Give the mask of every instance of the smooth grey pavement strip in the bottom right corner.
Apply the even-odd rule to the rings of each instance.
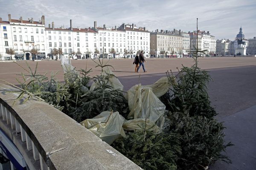
[[[209,170],[256,170],[256,105],[219,121],[227,127],[225,141],[235,144],[225,153],[233,163],[217,161]]]

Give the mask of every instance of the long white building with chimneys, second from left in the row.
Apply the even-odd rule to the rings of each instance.
[[[70,20],[70,28],[54,28],[49,24],[45,28],[47,39],[47,54],[52,59],[54,48],[62,50],[64,56],[70,56],[73,59],[89,58],[93,54],[96,47],[97,32],[91,28],[73,28],[72,20]]]

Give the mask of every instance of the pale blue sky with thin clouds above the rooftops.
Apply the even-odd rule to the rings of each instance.
[[[240,26],[246,38],[256,37],[256,0],[0,0],[0,17],[8,20],[20,16],[23,20],[39,20],[45,15],[46,26],[55,27],[119,26],[134,23],[156,29],[182,31],[210,31],[216,39],[233,40]]]

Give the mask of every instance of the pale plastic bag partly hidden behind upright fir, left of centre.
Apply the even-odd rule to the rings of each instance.
[[[103,68],[103,75],[110,75],[109,79],[106,79],[106,81],[108,81],[107,85],[111,86],[114,89],[123,91],[124,86],[121,84],[119,79],[115,76],[115,74],[113,74],[113,72],[108,67]],[[99,87],[99,85],[97,85],[96,82],[93,82],[93,84],[90,87],[90,92],[92,92],[97,87]]]

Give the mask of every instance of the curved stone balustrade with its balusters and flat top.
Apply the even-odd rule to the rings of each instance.
[[[141,170],[61,111],[29,99],[13,104],[17,89],[0,84],[0,128],[30,170]],[[24,164],[24,160],[26,164]]]

